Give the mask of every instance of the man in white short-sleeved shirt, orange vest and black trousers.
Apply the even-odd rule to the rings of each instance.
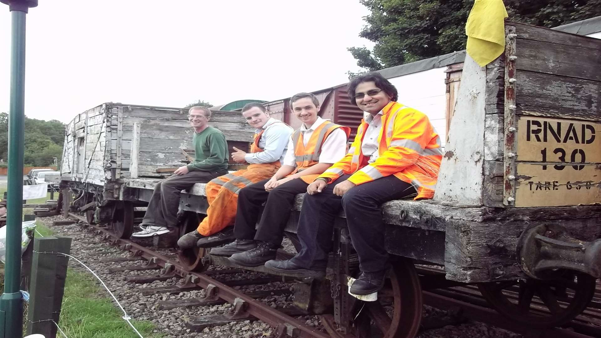
[[[259,266],[274,259],[294,197],[307,192],[317,176],[346,154],[350,128],[319,117],[319,100],[314,94],[296,94],[290,105],[302,125],[288,141],[284,164],[270,179],[240,190],[236,241],[213,248],[211,254],[230,257],[231,262],[242,266]],[[255,231],[263,203],[265,208]]]

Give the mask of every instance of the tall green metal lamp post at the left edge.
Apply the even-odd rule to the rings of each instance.
[[[0,0],[10,6],[12,19],[10,112],[8,115],[8,198],[4,293],[0,297],[0,333],[22,336],[21,220],[23,214],[23,140],[25,121],[25,15],[37,0]]]

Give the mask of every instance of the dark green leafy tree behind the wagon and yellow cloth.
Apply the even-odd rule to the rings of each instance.
[[[362,69],[379,70],[465,49],[474,0],[361,0],[371,14],[359,36],[373,51],[348,51]],[[601,0],[504,0],[509,19],[548,28],[601,15]],[[354,73],[349,72],[349,75]]]

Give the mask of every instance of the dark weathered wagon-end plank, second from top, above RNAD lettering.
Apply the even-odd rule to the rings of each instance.
[[[596,49],[518,38],[517,70],[601,81],[601,41]],[[578,62],[575,62],[578,60]]]

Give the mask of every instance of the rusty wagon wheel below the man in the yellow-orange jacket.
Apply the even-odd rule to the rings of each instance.
[[[413,338],[418,333],[423,301],[415,266],[409,259],[392,262],[388,277],[377,301],[356,302],[355,337]],[[324,325],[332,327],[331,323]],[[335,330],[328,333],[349,337]]]

